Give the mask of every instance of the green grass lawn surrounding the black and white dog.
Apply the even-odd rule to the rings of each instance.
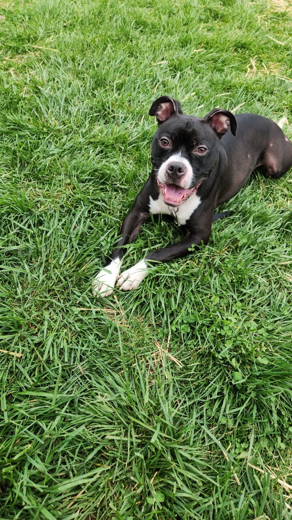
[[[0,518],[292,518],[292,176],[135,292],[92,277],[168,94],[292,139],[286,0],[0,4]],[[178,239],[143,226],[125,267]],[[16,353],[13,355],[11,353]]]

